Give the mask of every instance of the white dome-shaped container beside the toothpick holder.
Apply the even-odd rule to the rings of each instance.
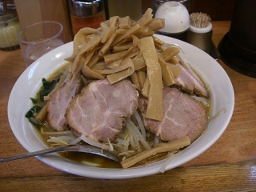
[[[165,2],[158,7],[154,18],[164,18],[165,27],[161,32],[178,34],[186,31],[190,26],[190,14],[180,2]]]

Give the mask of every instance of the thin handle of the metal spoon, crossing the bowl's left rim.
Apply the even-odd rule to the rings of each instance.
[[[58,147],[54,147],[54,148],[50,148],[50,149],[46,149],[46,150],[38,150],[38,151],[34,151],[31,153],[27,153],[27,154],[20,154],[20,155],[10,157],[10,158],[0,158],[0,163],[1,162],[10,162],[10,161],[14,161],[14,160],[21,159],[21,158],[30,158],[30,157],[37,156],[39,154],[50,154],[50,153],[62,152],[62,151],[66,151],[66,149],[68,147],[75,148],[74,146],[58,146]]]

